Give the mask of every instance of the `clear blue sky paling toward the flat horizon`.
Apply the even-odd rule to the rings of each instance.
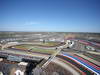
[[[100,0],[0,0],[0,31],[100,32]]]

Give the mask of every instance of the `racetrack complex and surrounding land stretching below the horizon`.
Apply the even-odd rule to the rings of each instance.
[[[99,33],[1,32],[0,75],[100,75],[99,38]]]

